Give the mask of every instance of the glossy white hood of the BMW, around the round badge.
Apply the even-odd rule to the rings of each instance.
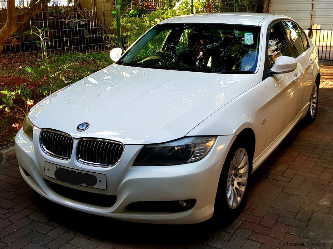
[[[124,144],[185,136],[253,86],[253,74],[214,74],[112,64],[63,88],[30,112],[39,128]],[[88,122],[89,128],[77,131]]]

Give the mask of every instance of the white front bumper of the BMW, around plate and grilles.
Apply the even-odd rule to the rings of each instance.
[[[31,142],[22,129],[15,138],[17,160],[23,179],[40,195],[76,210],[108,216],[120,220],[190,224],[209,219],[214,211],[214,201],[221,168],[235,136],[218,136],[210,152],[201,160],[173,166],[135,166],[133,161],[143,145],[125,145],[120,161],[112,167],[101,168],[79,163],[72,153],[68,161],[45,154],[39,145],[41,129],[35,127]],[[75,149],[78,139],[74,139]],[[51,162],[77,170],[106,174],[107,189],[72,186],[45,175],[44,162]],[[26,175],[24,172],[28,172]],[[89,205],[57,194],[49,181],[87,192],[115,195],[112,207]],[[133,202],[177,201],[195,199],[194,207],[181,212],[129,211],[126,207]]]

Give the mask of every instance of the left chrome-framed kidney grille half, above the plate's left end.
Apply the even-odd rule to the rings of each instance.
[[[51,129],[43,129],[39,135],[42,150],[53,157],[69,160],[73,150],[71,135]]]

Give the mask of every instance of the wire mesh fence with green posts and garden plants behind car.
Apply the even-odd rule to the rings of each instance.
[[[0,0],[0,148],[38,101],[110,65],[110,49],[158,22],[262,10],[263,0]]]

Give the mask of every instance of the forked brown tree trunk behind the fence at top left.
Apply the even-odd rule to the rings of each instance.
[[[7,21],[0,30],[0,53],[2,52],[6,41],[21,28],[22,24],[29,21],[41,12],[50,0],[33,0],[30,2],[30,8],[17,15],[15,10],[15,0],[7,0]]]

